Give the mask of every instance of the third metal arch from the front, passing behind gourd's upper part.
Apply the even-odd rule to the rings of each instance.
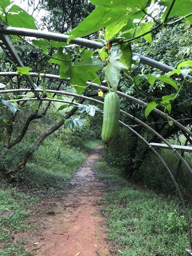
[[[31,89],[12,89],[12,90],[0,90],[0,93],[13,93],[13,92],[43,92],[42,89],[35,89],[35,90],[31,90]],[[76,93],[68,93],[68,92],[62,92],[62,91],[58,91],[58,90],[47,90],[48,93],[59,93],[59,94],[64,94],[64,95],[68,95],[68,96],[73,96],[73,97],[78,97],[78,98],[83,98],[83,99],[87,99],[87,100],[91,100],[93,102],[99,103],[99,104],[104,104],[104,102],[99,101],[97,99],[92,99],[90,97],[87,96],[83,96],[80,94],[76,94]],[[22,101],[23,99],[21,99],[20,101]],[[17,100],[13,100],[13,101],[17,101]],[[180,158],[180,160],[183,162],[183,164],[186,166],[186,168],[189,170],[189,172],[192,174],[192,169],[190,168],[190,166],[188,165],[188,163],[186,163],[186,161],[184,160],[184,158],[177,152],[177,150],[166,140],[164,139],[159,133],[157,133],[157,131],[154,131],[153,128],[149,127],[148,125],[146,125],[144,122],[142,122],[140,119],[137,119],[135,116],[132,116],[131,114],[120,110],[120,113],[124,114],[125,116],[128,116],[129,118],[133,119],[135,122],[139,123],[140,125],[143,125],[145,128],[148,129],[148,131],[151,131],[154,135],[156,135],[160,140],[162,140],[164,143],[166,143],[166,145],[169,146],[169,148],[174,152],[174,154],[177,155],[178,158]]]

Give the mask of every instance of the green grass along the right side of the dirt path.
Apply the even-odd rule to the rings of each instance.
[[[122,184],[122,172],[97,163],[97,177]],[[107,170],[107,175],[102,172]],[[104,173],[105,173],[104,172]],[[111,175],[109,173],[111,172]],[[113,174],[112,174],[113,173]],[[114,178],[115,176],[115,178]],[[149,189],[126,184],[101,200],[108,222],[108,239],[117,244],[121,256],[183,256],[188,246],[186,220],[177,198],[157,195]],[[188,206],[189,215],[192,209]]]

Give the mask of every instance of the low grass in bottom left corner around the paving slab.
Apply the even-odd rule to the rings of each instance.
[[[0,209],[13,210],[14,213],[8,218],[0,218],[0,241],[3,249],[1,256],[29,256],[27,250],[23,249],[19,243],[11,243],[15,232],[29,229],[32,224],[27,218],[29,212],[26,207],[32,205],[37,200],[29,195],[24,195],[17,188],[12,186],[2,186],[0,189]]]

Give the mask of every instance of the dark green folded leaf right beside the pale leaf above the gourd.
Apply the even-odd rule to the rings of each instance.
[[[119,48],[122,50],[122,55],[119,60],[126,67],[131,69],[132,57],[133,57],[131,44],[129,44],[129,43],[119,44]]]

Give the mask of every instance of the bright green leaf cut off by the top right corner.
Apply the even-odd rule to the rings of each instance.
[[[160,1],[159,4],[161,6],[167,7],[166,11],[163,13],[162,20],[165,19],[166,14],[169,10],[169,7],[171,6],[171,3],[172,3],[172,0],[161,0]],[[173,8],[169,14],[169,17],[175,16],[175,15],[185,16],[185,15],[189,14],[190,12],[192,12],[192,0],[182,0],[182,1],[176,0],[173,5]],[[189,22],[192,24],[192,16],[187,17],[183,21],[186,21],[186,20],[189,20]]]

